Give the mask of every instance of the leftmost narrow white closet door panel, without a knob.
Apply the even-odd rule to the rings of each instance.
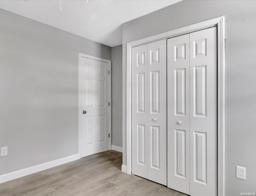
[[[132,173],[148,178],[147,45],[132,48]]]

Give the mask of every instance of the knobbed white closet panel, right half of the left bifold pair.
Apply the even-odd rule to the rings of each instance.
[[[148,179],[167,185],[166,40],[148,44]]]

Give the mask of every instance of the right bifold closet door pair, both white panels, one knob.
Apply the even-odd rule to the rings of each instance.
[[[168,40],[168,187],[217,195],[216,27]]]

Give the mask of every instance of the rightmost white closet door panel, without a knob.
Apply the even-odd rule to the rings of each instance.
[[[217,195],[217,28],[190,33],[190,195]]]

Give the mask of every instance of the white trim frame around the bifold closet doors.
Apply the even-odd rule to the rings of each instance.
[[[176,36],[180,36],[183,34],[188,34],[191,32],[195,32],[198,30],[203,30],[206,28],[210,28],[213,26],[217,26],[217,94],[218,94],[218,116],[217,116],[217,141],[218,141],[218,149],[217,149],[217,193],[218,196],[224,196],[224,70],[225,70],[225,39],[224,39],[224,16],[220,16],[217,18],[213,18],[210,20],[206,20],[203,22],[199,22],[196,24],[192,24],[189,26],[185,26],[182,28],[178,28],[175,30],[171,30],[168,32],[164,32],[161,34],[157,34],[154,36],[150,36],[147,38],[143,38],[140,40],[136,40],[133,42],[127,43],[127,53],[126,53],[126,60],[127,64],[126,67],[126,74],[123,74],[123,78],[126,77],[126,84],[123,84],[123,88],[126,89],[126,96],[123,96],[124,104],[123,108],[123,115],[124,122],[123,122],[123,129],[126,130],[126,158],[127,158],[127,165],[126,165],[126,173],[132,173],[132,150],[131,150],[131,138],[132,138],[132,112],[131,112],[131,105],[132,105],[132,97],[131,97],[131,69],[132,69],[132,48],[135,46],[140,46],[142,44],[148,44],[150,42],[155,42],[162,39],[173,38]],[[122,168],[125,168],[123,165]]]

